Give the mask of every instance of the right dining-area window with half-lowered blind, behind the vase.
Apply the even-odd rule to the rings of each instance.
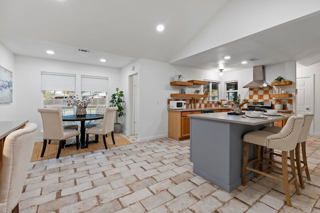
[[[94,114],[96,105],[108,105],[107,97],[108,78],[99,76],[81,75],[81,95],[93,97],[92,103],[86,108],[87,113]]]

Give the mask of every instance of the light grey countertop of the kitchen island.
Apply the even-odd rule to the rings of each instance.
[[[282,116],[267,116],[267,118],[249,118],[249,117],[245,117],[245,115],[228,115],[227,112],[191,114],[187,116],[191,118],[199,118],[199,119],[254,126],[254,125],[265,124],[273,121],[283,120],[285,118],[290,117],[291,114],[283,114]]]

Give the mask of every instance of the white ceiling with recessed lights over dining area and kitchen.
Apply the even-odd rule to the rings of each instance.
[[[0,42],[15,54],[109,67],[138,58],[169,62],[227,2],[0,0]],[[155,30],[159,23],[162,32]],[[221,62],[225,70],[287,61],[310,65],[320,61],[319,29],[316,12],[173,63],[207,70]],[[251,58],[258,60],[240,64]]]

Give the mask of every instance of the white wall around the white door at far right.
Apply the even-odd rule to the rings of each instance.
[[[320,82],[320,62],[312,64],[310,66],[302,66],[299,65],[296,67],[296,75],[301,76],[305,74],[314,75],[314,119],[313,119],[313,135],[320,136],[320,119],[318,113],[320,113],[320,84],[316,82]],[[313,97],[310,97],[313,98]]]

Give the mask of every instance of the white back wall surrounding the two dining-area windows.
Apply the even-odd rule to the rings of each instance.
[[[120,81],[120,69],[72,63],[35,57],[15,56],[16,95],[14,114],[18,120],[29,120],[36,123],[37,140],[41,139],[41,116],[37,109],[43,106],[41,100],[41,71],[76,74],[76,93],[80,94],[80,75],[108,77],[108,99]],[[2,110],[0,110],[2,111]]]

